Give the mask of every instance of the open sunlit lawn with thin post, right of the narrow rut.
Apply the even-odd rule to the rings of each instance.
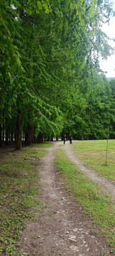
[[[72,149],[78,158],[96,170],[99,175],[115,181],[115,140],[108,142],[106,164],[106,140],[73,142]]]

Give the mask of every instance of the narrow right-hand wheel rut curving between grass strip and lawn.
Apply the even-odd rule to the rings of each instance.
[[[98,176],[96,171],[88,169],[86,166],[84,166],[84,163],[82,163],[82,161],[80,161],[80,159],[78,159],[77,156],[72,152],[71,146],[68,143],[69,142],[67,142],[64,147],[68,158],[84,173],[85,176],[101,186],[104,193],[108,193],[111,195],[112,200],[115,200],[114,182],[107,180],[107,178],[104,178],[104,176]]]

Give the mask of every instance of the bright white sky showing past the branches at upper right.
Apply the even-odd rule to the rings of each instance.
[[[111,2],[113,3],[113,9],[115,11],[115,0],[111,0]],[[104,24],[102,26],[102,31],[104,31],[109,38],[115,38],[115,17],[110,18],[109,25]],[[109,44],[115,48],[115,42],[109,41]],[[107,73],[105,73],[106,78],[115,78],[115,50],[114,54],[109,56],[107,60],[102,60],[100,57],[99,65],[104,72],[107,71]]]

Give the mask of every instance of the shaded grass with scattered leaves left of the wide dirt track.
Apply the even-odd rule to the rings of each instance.
[[[23,149],[1,154],[0,255],[20,255],[18,241],[33,208],[40,208],[37,167],[46,151]]]

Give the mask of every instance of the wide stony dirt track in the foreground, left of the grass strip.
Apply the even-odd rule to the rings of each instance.
[[[62,144],[62,142],[61,142]],[[39,166],[43,208],[38,220],[28,223],[20,243],[20,250],[28,256],[106,256],[110,247],[103,238],[98,238],[98,229],[92,221],[82,215],[82,208],[74,201],[63,186],[54,164],[55,147],[48,148],[48,154]],[[65,151],[70,151],[66,144]]]

